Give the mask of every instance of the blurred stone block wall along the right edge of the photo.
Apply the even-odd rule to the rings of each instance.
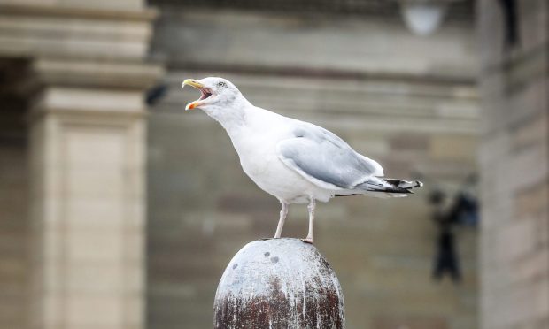
[[[482,327],[549,327],[549,4],[478,3],[483,96]]]

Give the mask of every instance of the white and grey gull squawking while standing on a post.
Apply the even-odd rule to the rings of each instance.
[[[417,180],[383,178],[381,165],[336,134],[254,106],[226,79],[187,79],[185,86],[202,94],[185,110],[200,109],[219,122],[244,172],[282,204],[274,239],[281,237],[289,204],[308,203],[309,231],[302,241],[313,243],[316,201],[326,203],[342,195],[406,196],[423,185]]]

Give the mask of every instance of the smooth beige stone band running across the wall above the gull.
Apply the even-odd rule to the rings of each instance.
[[[467,29],[462,26],[447,26],[421,38],[398,21],[374,15],[338,19],[336,15],[166,7],[159,27],[162,33],[152,41],[153,50],[183,66],[232,66],[253,71],[259,65],[297,72],[316,68],[349,70],[355,75],[410,74],[420,80],[429,76],[469,79],[477,67],[472,56],[476,45],[473,39],[461,37]]]

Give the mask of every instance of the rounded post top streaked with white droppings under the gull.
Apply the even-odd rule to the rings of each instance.
[[[344,328],[336,273],[298,239],[250,242],[221,277],[213,328]]]

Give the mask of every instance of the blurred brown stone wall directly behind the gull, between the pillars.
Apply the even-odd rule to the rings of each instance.
[[[148,326],[209,327],[230,258],[274,234],[277,200],[245,176],[216,122],[183,111],[198,96],[183,79],[220,75],[256,105],[339,134],[388,176],[425,178],[406,199],[318,205],[315,244],[341,281],[348,328],[475,328],[476,232],[458,233],[464,281],[433,282],[426,201],[476,172],[473,43],[460,26],[421,39],[392,20],[163,10],[153,56],[170,69],[149,119]],[[305,206],[291,206],[282,235],[306,227]]]

